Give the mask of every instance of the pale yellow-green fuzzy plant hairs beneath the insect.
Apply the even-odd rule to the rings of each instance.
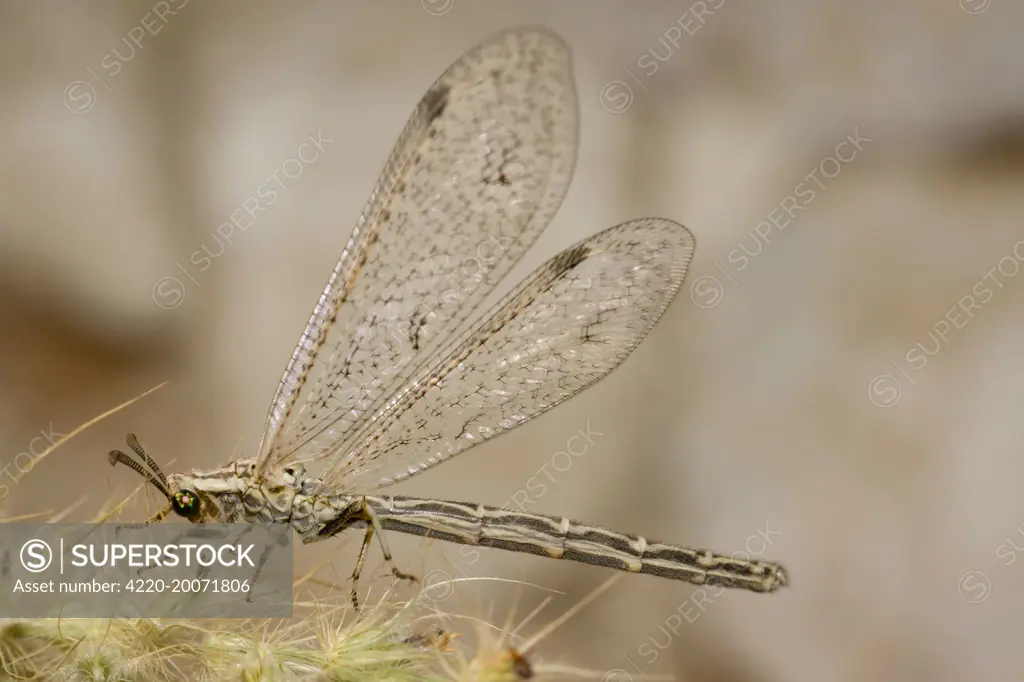
[[[164,384],[95,417],[57,440],[49,456],[78,433],[128,407]],[[136,499],[110,501],[93,522],[118,518]],[[84,503],[57,512],[7,517],[0,522],[37,519],[59,522]],[[295,593],[310,576],[296,581]],[[325,598],[296,600],[291,619],[0,619],[0,682],[517,682],[525,679],[601,674],[545,665],[534,647],[568,615],[588,603],[605,583],[568,613],[513,646],[509,630],[477,625],[478,636],[453,646],[460,633],[456,616],[423,609],[425,600],[400,600],[386,591],[358,610],[345,585],[328,585]],[[308,593],[303,590],[302,594]],[[545,602],[546,603],[546,602]],[[543,606],[543,605],[542,605]],[[445,627],[438,627],[444,623]],[[497,638],[494,631],[502,634]]]

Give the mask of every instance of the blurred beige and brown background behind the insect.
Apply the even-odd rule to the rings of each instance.
[[[169,468],[252,454],[412,106],[488,34],[543,24],[574,52],[582,146],[512,279],[665,215],[697,237],[687,288],[607,380],[398,492],[503,504],[547,467],[535,511],[788,566],[771,596],[625,577],[537,654],[606,679],[1019,675],[1024,5],[768,4],[4,3],[5,513],[131,489],[105,461],[129,430]],[[189,265],[317,131],[272,208]],[[40,434],[164,380],[20,473]],[[357,540],[315,549],[347,576]],[[526,632],[606,577],[391,542],[424,572],[564,592]],[[502,621],[544,594],[468,583],[441,607]]]

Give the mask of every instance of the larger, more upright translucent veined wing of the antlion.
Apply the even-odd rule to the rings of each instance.
[[[561,204],[577,118],[569,52],[541,29],[430,87],[292,353],[259,471],[336,451],[466,321]]]

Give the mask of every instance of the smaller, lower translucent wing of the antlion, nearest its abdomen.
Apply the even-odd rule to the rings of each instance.
[[[341,443],[325,482],[356,491],[407,478],[587,388],[662,316],[693,248],[682,225],[646,218],[566,249]]]

